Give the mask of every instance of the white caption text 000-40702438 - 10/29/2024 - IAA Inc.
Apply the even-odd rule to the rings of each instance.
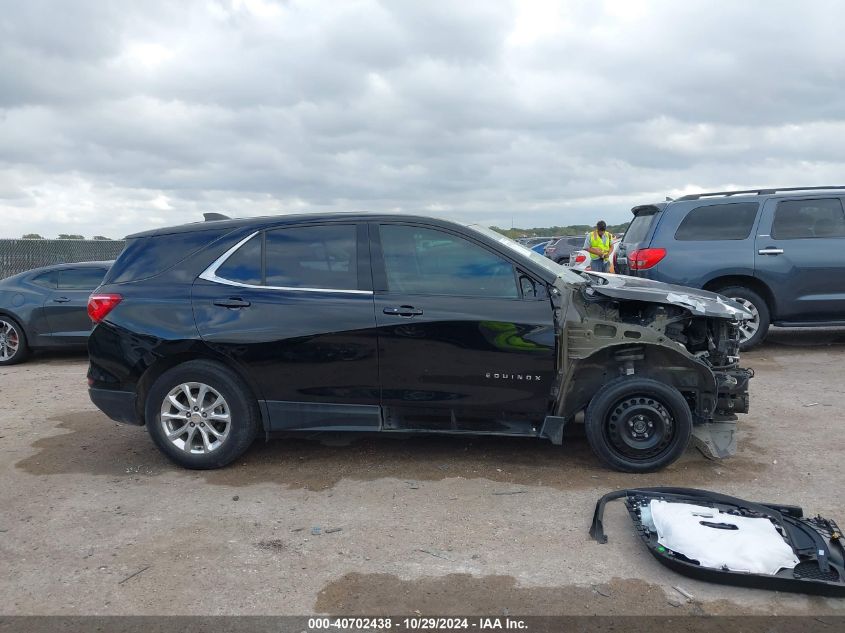
[[[354,618],[309,618],[309,631],[527,631],[525,620],[510,617],[354,617]]]

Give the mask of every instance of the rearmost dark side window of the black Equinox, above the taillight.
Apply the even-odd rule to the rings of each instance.
[[[119,284],[154,277],[211,244],[225,232],[221,229],[189,231],[131,239],[103,283]]]

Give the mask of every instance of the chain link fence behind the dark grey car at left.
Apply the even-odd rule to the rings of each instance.
[[[0,239],[0,279],[51,264],[115,259],[124,240],[4,240]]]

